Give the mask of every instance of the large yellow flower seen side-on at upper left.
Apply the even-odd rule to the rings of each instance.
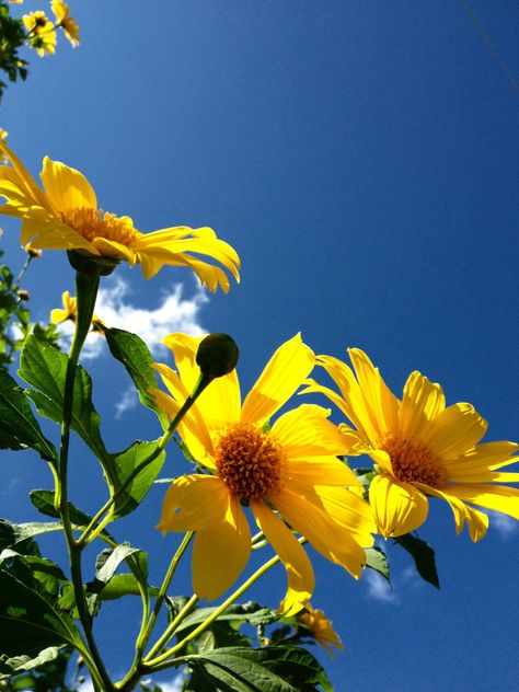
[[[42,250],[76,250],[92,258],[140,264],[151,278],[164,265],[193,269],[209,290],[229,290],[229,278],[218,266],[195,258],[208,255],[239,280],[240,258],[210,228],[185,226],[141,233],[129,217],[116,217],[97,208],[95,193],[86,177],[64,163],[45,157],[41,173],[44,189],[2,142],[0,152],[12,165],[0,165],[0,196],[8,204],[0,214],[22,219],[21,242]]]

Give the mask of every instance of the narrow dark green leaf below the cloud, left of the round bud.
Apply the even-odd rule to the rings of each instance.
[[[107,328],[105,330],[105,337],[112,355],[125,366],[134,380],[141,403],[155,412],[165,430],[169,425],[168,416],[159,411],[149,393],[150,388],[157,388],[157,380],[155,371],[151,367],[153,357],[148,346],[140,336],[124,330]]]

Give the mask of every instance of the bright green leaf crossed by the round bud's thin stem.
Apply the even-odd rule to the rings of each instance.
[[[157,449],[158,441],[143,442],[137,440],[125,451],[118,454],[111,454],[115,488],[122,487],[134,470],[155,452]],[[124,517],[139,506],[159,475],[164,460],[165,452],[162,451],[137,474],[126,491],[117,498],[115,504],[115,517]]]

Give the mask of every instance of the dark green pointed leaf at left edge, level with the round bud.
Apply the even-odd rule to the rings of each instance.
[[[0,368],[0,448],[35,449],[51,463],[58,462],[58,452],[43,435],[31,411],[25,392]]]

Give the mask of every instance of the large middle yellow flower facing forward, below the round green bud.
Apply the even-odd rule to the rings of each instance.
[[[155,365],[171,396],[152,390],[159,407],[173,417],[199,377],[195,357],[200,338],[171,334],[177,372]],[[214,380],[178,426],[189,452],[208,470],[176,478],[168,489],[158,528],[196,531],[193,586],[199,598],[221,596],[240,576],[251,552],[244,507],[285,565],[288,590],[281,608],[295,614],[314,587],[310,560],[280,519],[322,555],[359,577],[361,546],[372,544],[369,505],[346,486],[357,477],[336,455],[347,436],[326,420],[330,411],[302,405],[267,422],[295,393],[314,365],[300,335],[272,357],[243,405],[235,370]]]

